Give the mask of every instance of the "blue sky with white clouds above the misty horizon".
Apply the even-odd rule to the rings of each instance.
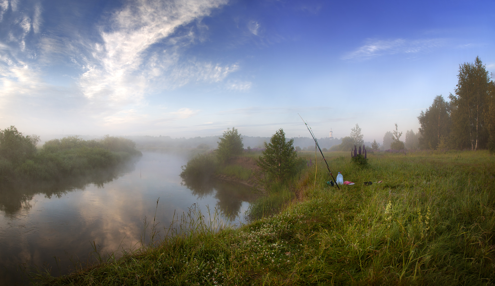
[[[493,0],[0,0],[0,128],[381,143],[494,51]]]

